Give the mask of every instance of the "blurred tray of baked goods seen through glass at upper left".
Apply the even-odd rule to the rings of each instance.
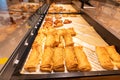
[[[43,5],[42,2],[40,3],[27,3],[27,2],[22,2],[19,4],[14,4],[9,6],[9,10],[12,11],[22,11],[22,12],[35,12],[39,7]]]

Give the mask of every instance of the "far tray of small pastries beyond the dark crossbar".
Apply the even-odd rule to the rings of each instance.
[[[52,3],[48,13],[78,13],[72,4],[56,4]]]

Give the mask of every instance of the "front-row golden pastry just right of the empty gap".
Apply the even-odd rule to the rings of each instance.
[[[100,62],[100,65],[107,69],[107,70],[113,70],[114,65],[111,62],[110,56],[105,49],[105,47],[96,47],[96,54],[98,56],[98,60]]]

